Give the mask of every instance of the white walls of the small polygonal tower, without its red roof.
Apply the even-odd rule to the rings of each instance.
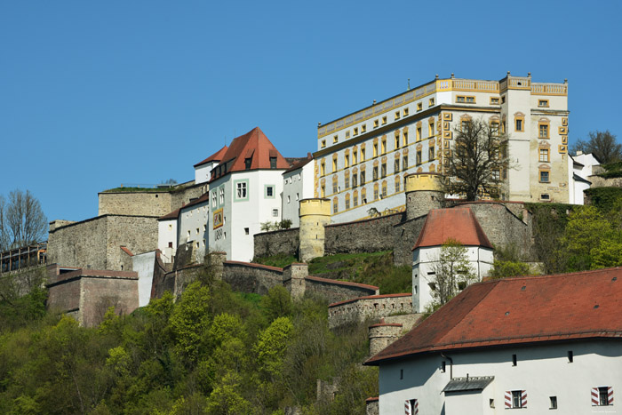
[[[432,289],[428,285],[434,281],[435,266],[441,255],[440,246],[418,248],[412,258],[412,309],[422,313],[432,304]],[[478,281],[492,269],[492,250],[481,246],[466,246],[466,258],[478,276]]]

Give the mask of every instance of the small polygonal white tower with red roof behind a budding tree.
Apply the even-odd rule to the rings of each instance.
[[[412,310],[415,313],[423,313],[432,304],[431,285],[435,283],[443,243],[449,239],[466,248],[466,259],[478,281],[492,268],[492,243],[473,211],[468,207],[429,211],[412,251]]]

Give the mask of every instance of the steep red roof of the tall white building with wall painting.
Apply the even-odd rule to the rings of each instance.
[[[231,141],[227,152],[222,156],[221,163],[211,171],[211,180],[223,177],[230,172],[270,169],[270,158],[272,157],[276,158],[275,170],[290,168],[285,157],[278,152],[270,140],[267,140],[266,134],[259,127],[255,127],[250,132]],[[246,159],[251,159],[249,169],[246,169],[245,166]]]

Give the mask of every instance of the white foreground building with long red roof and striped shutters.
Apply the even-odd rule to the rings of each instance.
[[[379,413],[616,413],[621,307],[622,268],[474,283],[365,363]]]

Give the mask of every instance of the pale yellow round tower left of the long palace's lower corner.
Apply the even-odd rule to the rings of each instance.
[[[324,226],[331,223],[330,199],[300,201],[299,257],[303,262],[324,255]]]

